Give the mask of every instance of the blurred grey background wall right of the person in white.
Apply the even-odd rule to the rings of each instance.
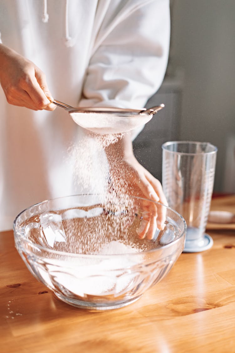
[[[171,1],[167,73],[150,103],[164,99],[165,131],[148,123],[134,143],[137,158],[161,179],[164,140],[211,142],[218,147],[214,190],[235,192],[235,0]],[[150,149],[141,152],[149,138]]]

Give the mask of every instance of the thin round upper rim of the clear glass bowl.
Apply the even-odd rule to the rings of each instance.
[[[76,196],[99,196],[101,194],[95,194],[95,193],[87,193],[87,194],[75,194],[75,195],[68,195],[68,196],[61,196],[61,197],[56,197],[56,198],[52,198],[52,199],[47,199],[47,200],[44,200],[42,202],[38,202],[36,204],[33,204],[27,208],[25,208],[23,211],[21,211],[17,216],[16,218],[14,219],[14,222],[13,222],[13,231],[14,231],[14,238],[17,238],[22,241],[24,241],[25,243],[28,243],[30,244],[31,246],[33,247],[36,247],[37,249],[40,249],[40,250],[43,250],[43,251],[46,251],[48,253],[51,253],[51,254],[56,254],[56,255],[62,255],[64,257],[66,256],[69,256],[69,257],[86,257],[86,258],[107,258],[107,257],[110,257],[110,256],[131,256],[131,257],[134,257],[134,256],[140,256],[141,254],[148,254],[148,253],[152,253],[152,252],[156,252],[156,251],[160,251],[162,249],[166,249],[168,247],[171,247],[173,246],[173,244],[177,244],[180,239],[183,237],[183,234],[185,233],[186,234],[186,230],[187,230],[187,225],[186,225],[186,221],[185,219],[177,212],[175,211],[174,209],[172,209],[171,207],[169,206],[166,206],[160,202],[156,202],[156,201],[153,201],[153,200],[150,200],[150,199],[147,199],[147,198],[144,198],[144,197],[139,197],[139,196],[131,196],[132,198],[135,198],[135,199],[141,199],[141,200],[144,200],[144,201],[149,201],[149,202],[152,202],[152,203],[155,203],[155,204],[159,204],[171,211],[173,211],[177,216],[180,217],[180,219],[183,221],[183,225],[184,225],[184,229],[183,231],[181,232],[180,234],[180,237],[174,241],[172,241],[171,243],[169,244],[166,244],[166,245],[163,245],[159,248],[156,248],[156,249],[150,249],[150,250],[146,250],[146,251],[143,251],[143,252],[135,252],[135,253],[121,253],[121,254],[81,254],[81,253],[73,253],[73,252],[65,252],[65,251],[58,251],[58,250],[53,250],[53,249],[48,249],[47,247],[44,247],[43,245],[40,245],[40,244],[35,244],[35,243],[32,243],[32,241],[30,241],[29,239],[26,239],[25,237],[23,237],[23,235],[18,232],[16,230],[16,222],[18,220],[18,218],[20,217],[21,214],[23,214],[25,211],[29,210],[30,208],[32,207],[35,207],[35,206],[38,206],[38,205],[41,205],[41,204],[44,204],[44,203],[47,203],[47,202],[50,202],[50,201],[56,201],[56,200],[59,200],[59,199],[64,199],[64,198],[68,198],[68,197],[76,197]]]

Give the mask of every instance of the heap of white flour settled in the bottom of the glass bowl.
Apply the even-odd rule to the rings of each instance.
[[[136,273],[130,273],[128,269],[141,263],[141,254],[134,258],[131,256],[137,252],[138,250],[130,245],[111,241],[105,244],[97,255],[114,256],[103,257],[99,261],[95,257],[68,261],[51,259],[50,264],[47,264],[48,273],[57,286],[62,286],[80,297],[111,294],[116,297],[130,290],[136,283]],[[117,254],[119,256],[116,256]],[[40,272],[43,277],[48,276],[44,271]]]

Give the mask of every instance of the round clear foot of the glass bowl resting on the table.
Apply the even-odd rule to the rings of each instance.
[[[106,303],[89,303],[88,301],[83,301],[83,300],[78,300],[78,299],[72,299],[65,297],[62,294],[54,292],[56,297],[64,303],[67,303],[69,305],[73,305],[75,307],[81,308],[81,309],[89,309],[89,310],[112,310],[112,309],[119,309],[122,308],[126,305],[134,303],[136,300],[140,299],[143,294],[138,295],[134,299],[129,299],[129,300],[119,300],[119,301],[111,301],[106,302]]]

